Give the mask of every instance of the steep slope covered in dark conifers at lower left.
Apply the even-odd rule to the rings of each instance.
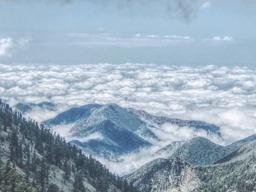
[[[0,99],[0,191],[136,191],[94,158]]]

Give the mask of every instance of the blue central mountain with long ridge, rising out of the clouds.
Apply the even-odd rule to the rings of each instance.
[[[72,143],[91,155],[113,159],[159,142],[155,131],[170,122],[219,135],[219,128],[208,123],[157,117],[117,104],[74,107],[43,123],[48,128],[71,125],[69,133],[75,138]]]

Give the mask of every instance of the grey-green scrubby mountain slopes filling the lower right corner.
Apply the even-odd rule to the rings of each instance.
[[[255,173],[255,136],[227,147],[199,137],[124,178],[145,192],[255,191]]]

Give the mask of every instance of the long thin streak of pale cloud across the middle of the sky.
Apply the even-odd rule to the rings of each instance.
[[[68,33],[64,34],[67,39],[61,45],[75,45],[79,47],[176,47],[180,45],[200,45],[201,43],[221,45],[227,42],[236,42],[233,37],[195,38],[181,34],[121,34],[115,31],[102,33]],[[38,42],[37,42],[38,43]],[[37,44],[38,45],[38,44]],[[53,39],[50,42],[39,45],[59,45]]]

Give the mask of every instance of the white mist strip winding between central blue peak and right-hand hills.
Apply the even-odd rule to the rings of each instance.
[[[192,128],[188,127],[178,127],[173,126],[168,123],[159,126],[158,129],[153,130],[157,137],[161,140],[158,142],[153,142],[153,146],[149,148],[143,148],[137,153],[130,153],[128,155],[123,155],[118,158],[118,161],[108,161],[102,158],[98,158],[102,164],[105,164],[111,172],[115,172],[118,175],[125,175],[135,172],[144,164],[156,159],[156,158],[168,158],[170,157],[169,152],[157,153],[158,150],[162,149],[166,145],[169,145],[171,142],[175,141],[185,141],[195,137],[206,137],[211,139],[214,142],[222,144],[222,141],[219,137],[214,135],[208,135],[206,131],[195,131]],[[174,152],[174,150],[173,150]]]

